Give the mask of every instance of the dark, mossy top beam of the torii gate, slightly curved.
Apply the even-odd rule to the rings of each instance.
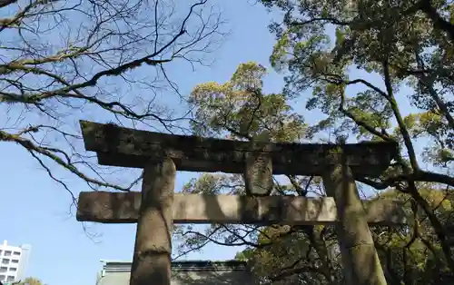
[[[246,158],[266,147],[274,174],[321,175],[327,164],[338,162],[340,146],[318,143],[261,143],[153,133],[114,124],[81,121],[87,151],[97,152],[103,165],[143,168],[165,153],[178,171],[242,173]],[[396,143],[354,143],[342,147],[356,175],[380,175],[398,153]]]

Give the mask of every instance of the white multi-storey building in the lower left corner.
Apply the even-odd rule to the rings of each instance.
[[[28,244],[20,247],[0,244],[0,281],[13,282],[25,280],[25,267],[32,247]]]

